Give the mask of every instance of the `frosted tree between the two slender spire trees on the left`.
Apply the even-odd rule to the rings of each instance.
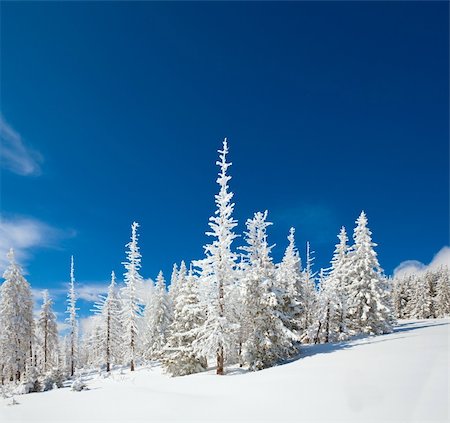
[[[111,364],[121,363],[123,345],[122,308],[116,288],[116,275],[111,272],[111,283],[108,294],[100,295],[94,303],[94,311],[99,317],[96,350],[99,359],[106,364],[106,371],[111,370]]]

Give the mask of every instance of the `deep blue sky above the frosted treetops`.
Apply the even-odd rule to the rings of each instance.
[[[2,252],[59,295],[200,258],[216,151],[236,218],[330,260],[362,209],[387,273],[449,243],[446,2],[2,2]],[[304,253],[303,253],[304,256]],[[2,263],[0,261],[0,263]],[[83,313],[89,308],[83,304]]]

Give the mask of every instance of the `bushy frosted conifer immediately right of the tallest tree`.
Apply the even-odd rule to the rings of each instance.
[[[288,327],[292,310],[286,307],[288,291],[277,284],[267,243],[267,211],[246,222],[244,277],[241,281],[243,358],[250,370],[270,367],[296,351],[297,335]],[[289,305],[289,304],[288,304]]]

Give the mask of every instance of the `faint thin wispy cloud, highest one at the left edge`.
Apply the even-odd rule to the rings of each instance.
[[[27,146],[0,114],[0,166],[22,176],[41,174],[42,154]]]

